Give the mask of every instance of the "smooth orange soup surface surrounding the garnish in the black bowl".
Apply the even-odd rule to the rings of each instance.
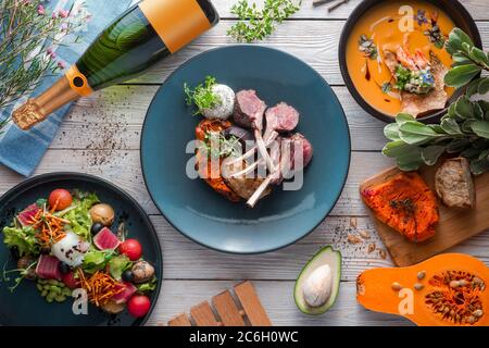
[[[414,20],[412,32],[401,32],[399,26],[405,14],[399,14],[399,10],[405,5],[410,5],[413,9],[414,16],[418,10],[426,11],[428,23],[419,26]],[[425,30],[431,28],[429,18],[434,12],[438,13],[437,24],[441,34],[448,38],[455,24],[444,12],[425,1],[386,1],[367,11],[353,27],[347,44],[348,72],[355,89],[374,109],[391,116],[396,116],[402,111],[399,98],[385,94],[381,89],[383,84],[386,82],[391,82],[394,85],[394,79],[383,60],[384,50],[396,52],[406,41],[411,53],[414,53],[416,49],[421,49],[429,60],[429,52],[432,51],[447,67],[450,67],[453,63],[451,55],[444,49],[435,47],[429,41],[428,36],[424,35]],[[364,53],[359,50],[359,39],[362,35],[373,39],[377,45],[378,54],[381,59],[380,63],[377,60],[365,58]],[[369,78],[366,78],[366,76]],[[454,91],[453,88],[449,87],[446,87],[446,90],[449,97]],[[392,92],[396,95],[397,90],[392,89]]]

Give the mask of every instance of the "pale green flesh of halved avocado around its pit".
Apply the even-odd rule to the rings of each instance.
[[[303,284],[316,269],[325,264],[328,264],[331,269],[331,294],[323,306],[311,307],[304,300]],[[330,246],[324,247],[305,264],[297,278],[296,287],[293,289],[293,298],[296,299],[297,307],[305,314],[318,315],[325,313],[331,308],[338,297],[340,281],[341,253],[334,250]]]

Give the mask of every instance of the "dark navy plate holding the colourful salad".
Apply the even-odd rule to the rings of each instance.
[[[111,204],[116,213],[114,227],[121,221],[126,223],[129,238],[138,239],[142,245],[145,259],[154,265],[158,276],[158,287],[151,294],[151,310],[143,319],[135,319],[127,311],[118,315],[109,315],[93,306],[88,306],[87,315],[74,315],[73,301],[63,303],[48,303],[30,281],[23,281],[14,293],[8,287],[12,283],[0,283],[0,325],[142,325],[153,310],[160,293],[163,277],[163,263],[160,243],[156,233],[139,204],[126,192],[98,177],[77,173],[52,173],[27,179],[12,188],[0,199],[0,226],[12,222],[15,212],[35,202],[40,197],[48,197],[55,188],[80,189],[96,192],[100,200]],[[3,234],[0,233],[0,266],[8,270],[15,269],[9,249],[3,244]],[[11,276],[12,279],[15,276]],[[1,274],[0,274],[1,279]]]

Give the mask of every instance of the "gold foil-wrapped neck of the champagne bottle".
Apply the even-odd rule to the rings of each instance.
[[[84,76],[79,74],[76,65],[73,65],[65,75],[55,82],[49,89],[37,98],[30,98],[25,104],[12,113],[12,120],[23,130],[27,130],[36,124],[45,121],[51,113],[64,104],[88,96],[91,88],[79,79]]]

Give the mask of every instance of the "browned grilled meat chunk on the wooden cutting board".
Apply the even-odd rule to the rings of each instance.
[[[435,175],[435,187],[441,201],[450,208],[474,208],[475,188],[465,158],[449,159]]]

